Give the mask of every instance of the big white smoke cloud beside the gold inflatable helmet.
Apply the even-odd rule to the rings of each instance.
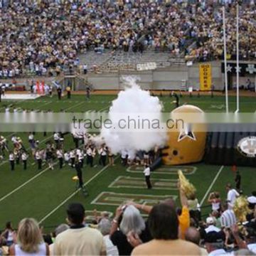
[[[112,107],[110,107],[109,117],[112,123],[117,124],[120,119],[127,120],[128,115],[130,119],[139,117],[140,120],[161,120],[162,105],[159,98],[152,97],[149,91],[142,90],[137,85],[136,78],[127,77],[124,82],[127,86],[124,91],[119,92],[117,99],[113,100]],[[131,157],[134,157],[138,150],[149,151],[155,146],[163,146],[166,142],[164,130],[151,129],[151,126],[148,128],[146,125],[144,129],[142,127],[140,129],[132,129],[132,127],[127,129],[126,127],[124,130],[117,129],[117,127],[103,128],[101,137],[105,139],[105,143],[114,154],[126,150]]]

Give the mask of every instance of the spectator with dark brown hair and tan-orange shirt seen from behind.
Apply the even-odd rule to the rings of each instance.
[[[132,255],[201,255],[197,245],[178,239],[178,216],[166,203],[151,210],[149,230],[154,239],[137,246]]]

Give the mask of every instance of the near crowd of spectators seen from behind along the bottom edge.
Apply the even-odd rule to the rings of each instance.
[[[256,255],[256,192],[247,198],[250,213],[240,223],[233,203],[238,193],[228,184],[227,203],[203,221],[178,183],[181,208],[172,198],[156,206],[127,202],[114,218],[107,212],[86,222],[80,203],[67,208],[67,222],[46,235],[36,220],[11,222],[0,237],[0,255]],[[216,205],[215,205],[216,206]],[[148,213],[147,219],[142,213]]]

